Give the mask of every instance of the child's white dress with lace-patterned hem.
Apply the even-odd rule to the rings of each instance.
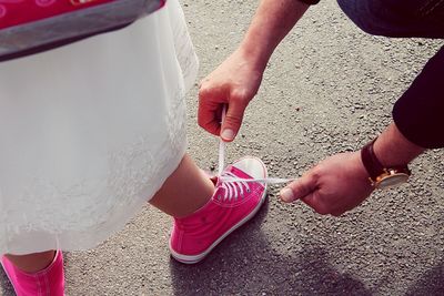
[[[0,254],[90,248],[120,229],[184,155],[196,71],[176,0],[0,63]]]

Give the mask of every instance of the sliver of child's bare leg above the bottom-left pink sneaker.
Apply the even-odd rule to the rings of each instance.
[[[56,251],[34,253],[22,256],[6,255],[19,269],[26,273],[37,273],[47,268],[54,259]]]

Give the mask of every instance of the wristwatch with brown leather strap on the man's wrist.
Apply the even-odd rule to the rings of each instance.
[[[407,182],[411,171],[407,165],[384,167],[377,160],[374,151],[373,144],[376,141],[367,143],[361,150],[361,159],[369,173],[369,180],[373,187],[375,188],[387,188],[398,186]]]

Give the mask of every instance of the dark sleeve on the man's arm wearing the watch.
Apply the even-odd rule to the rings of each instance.
[[[393,120],[401,133],[416,145],[444,147],[444,47],[396,101]]]

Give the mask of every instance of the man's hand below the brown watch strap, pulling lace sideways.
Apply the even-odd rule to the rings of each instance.
[[[286,202],[301,200],[320,214],[340,216],[360,205],[372,192],[360,152],[322,161],[281,191]]]

